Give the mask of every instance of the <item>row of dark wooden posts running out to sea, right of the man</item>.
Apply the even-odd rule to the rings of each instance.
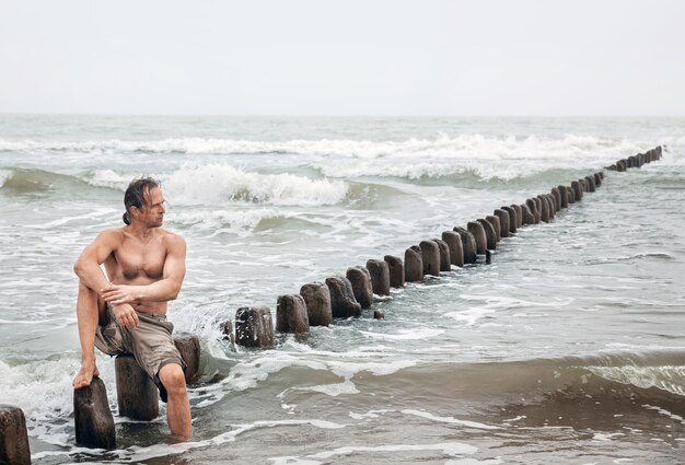
[[[618,160],[605,170],[623,172],[640,167],[660,160],[662,153],[660,146]],[[304,284],[300,290],[303,307],[300,303],[290,303],[295,301],[297,295],[280,295],[276,330],[302,335],[309,332],[310,326],[335,323],[336,318],[359,317],[363,309],[371,306],[373,295],[390,295],[391,288],[422,281],[429,275],[440,276],[441,272],[450,271],[452,266],[489,264],[491,251],[497,248],[499,242],[511,237],[520,228],[553,221],[559,211],[582,201],[585,194],[594,193],[602,186],[604,172],[600,171],[571,181],[568,185],[555,186],[548,193],[529,198],[522,204],[502,206],[495,209],[492,214],[468,221],[466,228],[454,226],[452,231],[444,231],[440,239],[419,241],[418,245],[411,245],[405,251],[404,261],[399,257],[386,255],[383,260],[369,259],[365,267],[350,267],[345,276]],[[324,291],[326,288],[328,292]],[[282,302],[289,303],[286,305]],[[253,317],[245,318],[246,312]],[[374,317],[383,317],[382,312],[374,312]],[[235,316],[235,342],[253,348],[274,347],[272,325],[264,323],[270,322],[270,318],[268,306],[240,309]],[[224,323],[230,327],[230,322]],[[239,336],[243,334],[249,337]]]

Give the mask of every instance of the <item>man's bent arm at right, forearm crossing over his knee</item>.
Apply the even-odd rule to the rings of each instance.
[[[186,275],[186,242],[170,234],[162,279],[150,284],[108,284],[103,298],[113,305],[133,302],[166,302],[176,299]]]

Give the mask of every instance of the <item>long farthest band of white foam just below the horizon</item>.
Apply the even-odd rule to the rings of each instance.
[[[682,139],[682,138],[681,138]],[[669,140],[666,140],[669,142]],[[678,140],[678,142],[682,142]],[[31,152],[36,150],[58,150],[73,152],[153,152],[187,154],[264,154],[287,153],[294,155],[334,158],[509,158],[542,159],[567,156],[573,159],[623,158],[650,146],[651,141],[609,140],[589,136],[567,135],[559,138],[535,136],[485,137],[478,133],[464,133],[457,137],[440,136],[434,139],[410,138],[399,141],[369,141],[351,139],[317,139],[259,141],[218,138],[167,138],[156,140],[90,140],[90,141],[36,141],[0,139],[0,150]]]

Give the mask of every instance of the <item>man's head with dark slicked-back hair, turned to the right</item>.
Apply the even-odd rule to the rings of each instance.
[[[138,219],[148,228],[161,226],[165,210],[160,182],[152,177],[131,181],[124,194],[124,207],[126,224],[131,224],[133,219]]]

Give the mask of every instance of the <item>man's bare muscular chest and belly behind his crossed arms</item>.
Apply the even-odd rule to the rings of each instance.
[[[150,230],[148,237],[140,239],[120,228],[115,230],[115,234],[118,245],[104,263],[109,282],[144,286],[163,278],[172,232],[155,228]],[[165,314],[167,303],[136,301],[131,306],[138,312]]]

